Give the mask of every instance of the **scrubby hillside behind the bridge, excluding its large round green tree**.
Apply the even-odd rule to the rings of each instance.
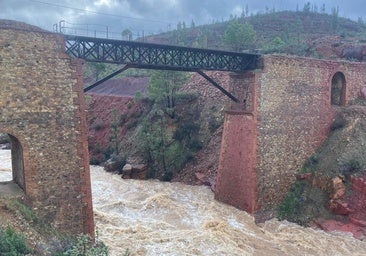
[[[327,42],[328,48],[337,48],[339,53],[343,47],[366,43],[365,24],[339,17],[337,13],[281,11],[240,17],[237,20],[240,23],[248,22],[256,32],[255,43],[246,48],[248,52],[270,51],[328,58],[334,56],[328,56],[326,52],[316,49],[323,41]],[[225,21],[194,28],[180,28],[144,40],[199,48],[227,49],[223,37],[229,24],[230,21]],[[274,49],[272,44],[276,37],[280,38],[284,45]],[[340,57],[340,54],[337,57]]]

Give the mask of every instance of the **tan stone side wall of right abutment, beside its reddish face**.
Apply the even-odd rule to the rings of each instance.
[[[366,64],[264,56],[258,81],[258,208],[273,209],[295,173],[326,139],[337,111],[331,105],[335,73],[346,79],[345,104],[366,86]]]

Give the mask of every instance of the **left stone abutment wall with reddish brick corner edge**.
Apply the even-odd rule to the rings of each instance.
[[[0,132],[19,141],[27,202],[60,231],[93,235],[81,74],[61,36],[0,20]]]

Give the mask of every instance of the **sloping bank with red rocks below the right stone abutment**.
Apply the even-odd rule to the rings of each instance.
[[[366,236],[366,100],[340,108],[332,132],[299,170],[279,216]]]

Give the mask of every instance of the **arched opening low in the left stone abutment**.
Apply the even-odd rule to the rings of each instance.
[[[13,181],[24,190],[23,148],[20,141],[11,134],[1,133],[0,146],[0,182]]]

